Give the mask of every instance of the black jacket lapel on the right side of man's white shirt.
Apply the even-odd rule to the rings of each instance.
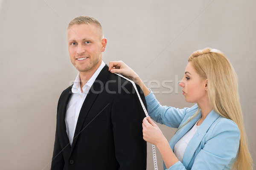
[[[106,79],[108,78],[109,74],[110,72],[108,71],[108,65],[105,65],[104,68],[102,68],[101,72],[99,73],[98,77],[95,79],[95,82],[93,82],[93,85],[91,86],[86,98],[84,99],[84,103],[81,107],[79,117],[76,123],[76,130],[75,130],[70,154],[72,153],[74,146],[76,145],[76,141],[79,137],[79,133],[81,132],[84,124],[84,119],[86,118],[88,112],[90,111],[91,106],[93,105],[99,93],[103,91],[103,88],[105,87]]]

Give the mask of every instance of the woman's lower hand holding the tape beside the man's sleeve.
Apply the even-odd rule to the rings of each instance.
[[[153,120],[148,117],[143,119],[143,139],[151,144],[159,145],[163,142],[167,142],[166,137],[163,135],[160,128],[153,122]]]

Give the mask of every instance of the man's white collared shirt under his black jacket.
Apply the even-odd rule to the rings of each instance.
[[[76,123],[77,119],[81,110],[81,107],[84,103],[84,99],[87,96],[87,93],[90,90],[90,87],[93,85],[93,82],[98,77],[99,72],[102,70],[102,68],[105,66],[105,63],[102,61],[99,68],[95,71],[93,76],[88,80],[88,82],[83,86],[83,93],[81,93],[81,87],[80,82],[81,79],[79,77],[79,73],[76,76],[75,82],[72,86],[72,93],[70,96],[70,100],[67,104],[67,111],[65,116],[65,123],[66,123],[66,132],[68,139],[70,141],[70,145],[72,145],[73,142],[73,136],[76,130]]]

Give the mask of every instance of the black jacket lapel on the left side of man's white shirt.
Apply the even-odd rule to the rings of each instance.
[[[65,115],[66,115],[66,108],[67,108],[67,103],[70,99],[70,96],[72,94],[71,92],[71,89],[72,89],[72,86],[71,85],[67,91],[63,94],[63,102],[61,102],[61,105],[59,106],[60,108],[60,123],[59,123],[59,127],[60,127],[60,131],[59,131],[59,134],[60,134],[60,138],[62,140],[60,140],[60,142],[62,143],[62,149],[64,149],[63,151],[64,152],[67,152],[67,155],[70,153],[70,150],[71,150],[71,146],[70,146],[70,141],[68,139],[68,136],[67,136],[67,132],[66,132],[66,123],[65,123]]]

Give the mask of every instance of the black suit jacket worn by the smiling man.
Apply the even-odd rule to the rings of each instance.
[[[70,146],[65,114],[72,86],[58,100],[51,170],[145,170],[145,113],[131,82],[110,73],[108,65],[102,68],[81,107]]]

